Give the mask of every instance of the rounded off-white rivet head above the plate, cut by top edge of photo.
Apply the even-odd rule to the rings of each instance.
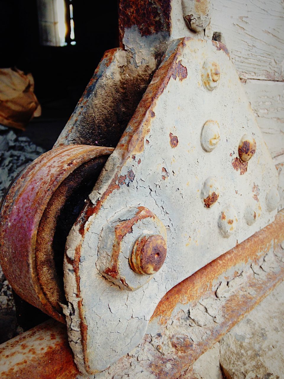
[[[195,32],[203,31],[210,23],[211,0],[182,0],[183,17],[187,27]]]

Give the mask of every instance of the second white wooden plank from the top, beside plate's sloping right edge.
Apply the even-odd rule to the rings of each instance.
[[[265,143],[278,163],[284,153],[284,82],[247,80],[243,86]]]

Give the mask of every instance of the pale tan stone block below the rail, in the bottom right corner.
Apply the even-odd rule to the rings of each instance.
[[[226,378],[283,378],[283,311],[284,282],[220,340]]]

